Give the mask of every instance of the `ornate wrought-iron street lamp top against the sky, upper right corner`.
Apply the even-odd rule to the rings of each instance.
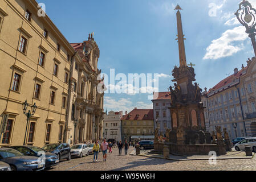
[[[239,9],[235,13],[239,22],[245,26],[246,33],[249,34],[251,42],[253,43],[254,54],[256,56],[256,41],[255,41],[255,26],[256,26],[256,10],[251,6],[251,3],[243,0],[239,4]]]

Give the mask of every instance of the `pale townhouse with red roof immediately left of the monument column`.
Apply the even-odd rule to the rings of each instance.
[[[165,134],[166,129],[172,128],[170,118],[170,93],[154,92],[153,93],[153,112],[154,112],[154,129],[159,127],[159,132]]]

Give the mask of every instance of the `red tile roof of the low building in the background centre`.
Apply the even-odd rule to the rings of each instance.
[[[123,115],[123,118],[121,118],[121,120],[153,120],[153,119],[154,119],[153,109],[133,109],[128,114]]]

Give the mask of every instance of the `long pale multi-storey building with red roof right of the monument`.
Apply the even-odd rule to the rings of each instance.
[[[230,138],[256,135],[256,65],[255,59],[247,67],[234,69],[233,75],[205,91],[206,129],[212,133],[216,126],[226,128]]]

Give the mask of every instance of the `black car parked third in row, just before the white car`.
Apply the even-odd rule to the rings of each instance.
[[[56,154],[60,159],[71,159],[71,149],[68,143],[53,143],[47,144],[43,147],[43,150]]]

